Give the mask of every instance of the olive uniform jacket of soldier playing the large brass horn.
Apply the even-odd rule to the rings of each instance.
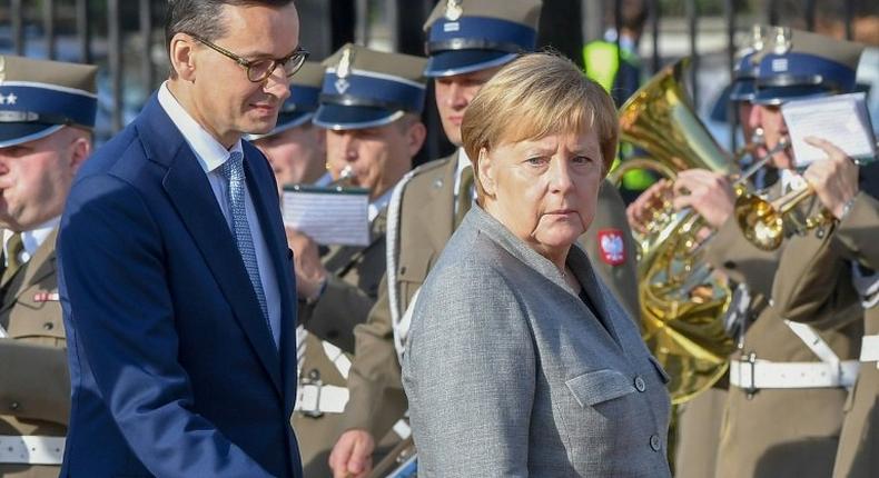
[[[733,360],[753,353],[757,360],[774,362],[819,361],[767,299],[784,247],[774,252],[758,249],[748,242],[734,218],[707,247],[708,261],[735,282],[748,285],[753,297],[750,323]],[[862,327],[856,316],[816,313],[808,321],[840,360],[857,358]],[[845,388],[761,389],[749,394],[730,385],[717,476],[830,476],[847,397]]]

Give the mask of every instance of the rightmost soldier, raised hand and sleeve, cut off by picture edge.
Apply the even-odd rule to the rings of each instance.
[[[828,159],[803,177],[836,219],[828,229],[794,237],[781,257],[774,307],[790,320],[863,310],[858,380],[846,406],[833,477],[867,478],[879,471],[879,170],[858,167],[832,143],[816,143]],[[860,176],[860,186],[859,186]]]

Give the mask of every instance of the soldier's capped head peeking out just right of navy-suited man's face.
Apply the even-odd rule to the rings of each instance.
[[[306,61],[290,79],[290,97],[278,112],[275,129],[246,137],[266,155],[278,181],[278,195],[286,185],[332,181],[324,168],[326,136],[312,125],[323,81],[324,67]]]

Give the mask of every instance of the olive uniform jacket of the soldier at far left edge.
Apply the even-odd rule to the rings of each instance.
[[[70,414],[65,328],[58,301],[57,229],[4,287],[0,326],[0,435],[63,437]],[[0,269],[3,262],[0,262]],[[57,477],[60,466],[0,464],[0,476]]]

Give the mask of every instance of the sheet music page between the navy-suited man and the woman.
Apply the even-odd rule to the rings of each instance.
[[[330,246],[369,245],[369,192],[362,188],[288,186],[284,188],[284,225]]]

